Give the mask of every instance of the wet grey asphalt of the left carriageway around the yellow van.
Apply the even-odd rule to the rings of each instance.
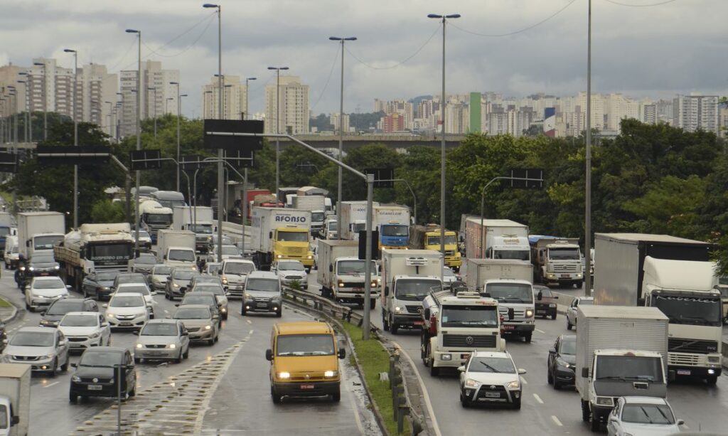
[[[23,307],[23,294],[15,287],[12,271],[2,273],[0,296]],[[154,298],[158,316],[175,309],[161,294]],[[265,359],[272,325],[312,317],[286,307],[282,319],[268,314],[243,319],[240,302],[232,301],[230,307],[232,313],[223,321],[217,344],[193,344],[189,359],[180,364],[142,362],[136,366],[138,394],[122,403],[122,421],[129,421],[141,434],[271,435],[301,434],[301,429],[317,435],[379,434],[348,358],[341,360],[345,368],[341,403],[293,400],[274,405],[269,394],[270,364]],[[40,319],[38,313],[23,312],[8,325],[9,336],[21,326],[38,325]],[[114,332],[111,344],[132,349],[135,338],[130,332]],[[71,362],[78,360],[76,355]],[[108,435],[116,431],[115,400],[68,402],[72,370],[55,378],[33,376],[30,435]]]

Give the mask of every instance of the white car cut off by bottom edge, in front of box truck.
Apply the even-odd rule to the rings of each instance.
[[[609,436],[673,435],[685,422],[675,419],[668,400],[655,397],[620,397],[609,413]]]

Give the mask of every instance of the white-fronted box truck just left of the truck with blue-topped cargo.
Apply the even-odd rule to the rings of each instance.
[[[465,218],[465,252],[469,258],[531,260],[529,226],[511,220]]]

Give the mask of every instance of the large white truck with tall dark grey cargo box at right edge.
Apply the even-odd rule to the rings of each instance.
[[[595,248],[595,304],[657,307],[670,320],[670,372],[715,384],[722,371],[716,246],[662,234],[597,233]]]

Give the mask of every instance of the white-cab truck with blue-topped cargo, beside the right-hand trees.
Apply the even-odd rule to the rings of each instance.
[[[584,264],[578,238],[561,238],[532,234],[531,262],[534,264],[534,282],[549,285],[581,286]]]

